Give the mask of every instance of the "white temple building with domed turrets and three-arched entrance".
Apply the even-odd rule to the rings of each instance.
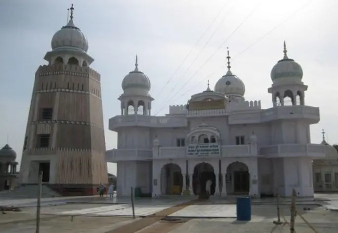
[[[150,79],[134,71],[122,82],[121,115],[109,119],[118,147],[106,151],[117,163],[117,195],[139,187],[144,195],[196,195],[212,180],[211,194],[253,197],[313,196],[312,160],[325,158],[326,145],[313,144],[310,125],[319,108],[305,105],[301,66],[287,55],[272,68],[272,108],[245,100],[245,85],[230,66],[214,91],[191,96],[152,116]],[[286,101],[290,99],[291,101]]]

